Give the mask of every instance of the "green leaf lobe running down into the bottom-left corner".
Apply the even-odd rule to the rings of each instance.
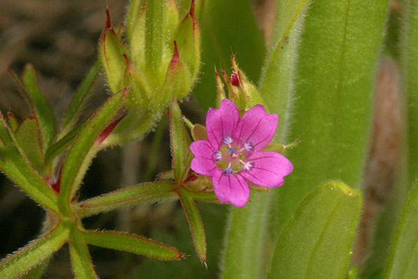
[[[43,262],[49,255],[57,251],[68,239],[68,229],[58,224],[40,239],[36,239],[24,248],[17,250],[0,263],[0,278],[17,278]]]

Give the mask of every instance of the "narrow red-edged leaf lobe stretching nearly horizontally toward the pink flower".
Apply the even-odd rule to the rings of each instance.
[[[77,216],[84,218],[103,211],[117,209],[121,206],[174,199],[177,197],[174,192],[177,188],[178,186],[170,181],[138,184],[80,202],[75,207],[75,212]]]

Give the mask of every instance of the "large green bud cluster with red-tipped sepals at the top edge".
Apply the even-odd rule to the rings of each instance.
[[[200,68],[194,8],[192,0],[189,13],[179,21],[175,0],[131,1],[126,45],[112,29],[107,11],[100,57],[112,92],[129,86],[129,109],[159,114],[170,99],[191,91]]]

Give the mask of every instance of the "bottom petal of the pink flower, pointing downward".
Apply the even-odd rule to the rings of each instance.
[[[216,197],[222,202],[230,202],[242,207],[250,197],[247,181],[239,174],[224,174],[222,169],[216,169],[212,177]]]

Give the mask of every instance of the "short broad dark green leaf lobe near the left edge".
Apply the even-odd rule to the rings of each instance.
[[[43,173],[43,153],[40,146],[38,121],[34,117],[25,118],[20,126],[15,130],[15,139],[20,146],[20,150],[29,160],[34,169]]]

